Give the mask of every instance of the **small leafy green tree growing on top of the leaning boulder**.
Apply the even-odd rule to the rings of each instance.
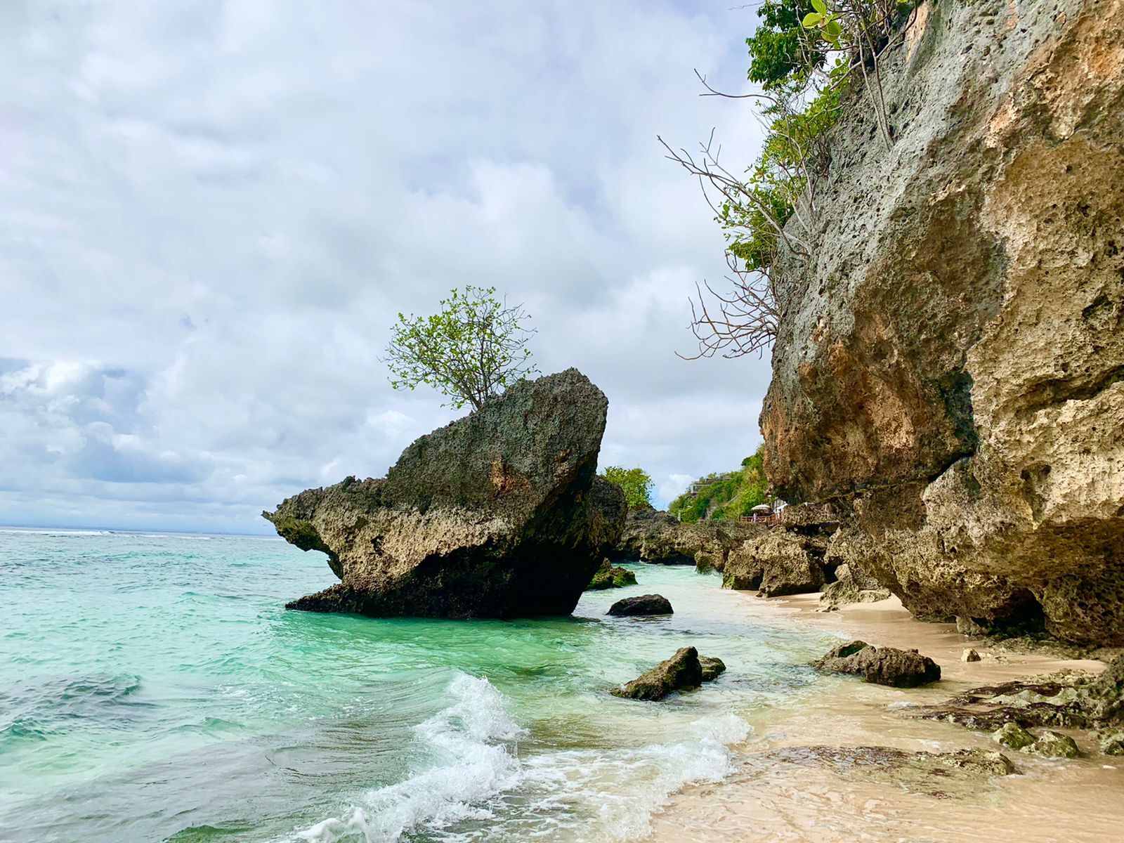
[[[384,362],[395,389],[419,383],[438,389],[450,404],[480,409],[489,397],[537,371],[527,341],[533,329],[523,306],[496,298],[496,288],[468,285],[441,300],[433,316],[398,315]]]

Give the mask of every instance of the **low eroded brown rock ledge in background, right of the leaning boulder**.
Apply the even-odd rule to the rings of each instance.
[[[762,532],[763,527],[755,524],[728,520],[682,524],[655,509],[629,509],[620,541],[609,555],[722,571],[734,549]]]

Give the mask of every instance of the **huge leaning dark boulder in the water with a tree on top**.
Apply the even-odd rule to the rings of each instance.
[[[342,580],[289,607],[570,613],[624,526],[624,495],[596,477],[607,408],[575,369],[524,381],[419,438],[386,479],[347,478],[263,513]]]

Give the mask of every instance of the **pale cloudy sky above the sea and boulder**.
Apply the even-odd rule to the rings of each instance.
[[[733,8],[732,8],[733,7]],[[686,362],[722,236],[656,135],[760,128],[729,0],[0,3],[0,524],[265,532],[459,415],[399,310],[492,285],[665,501],[758,444],[768,360]]]

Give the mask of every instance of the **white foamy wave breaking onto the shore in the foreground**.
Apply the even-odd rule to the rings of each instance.
[[[297,840],[391,843],[411,832],[447,841],[515,840],[520,833],[628,840],[649,830],[671,794],[725,778],[732,764],[727,746],[751,732],[735,715],[713,715],[691,724],[689,741],[520,759],[517,741],[525,732],[487,679],[459,674],[448,691],[454,704],[414,729],[426,765],[368,792],[346,816],[321,821]],[[465,824],[471,831],[463,831]]]

